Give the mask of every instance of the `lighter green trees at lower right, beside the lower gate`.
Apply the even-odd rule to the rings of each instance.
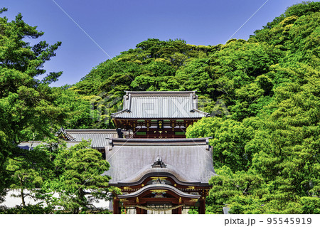
[[[243,139],[243,134],[236,137],[239,130],[236,130],[236,125],[227,123],[230,120],[206,120],[216,124],[199,127],[201,120],[188,128],[188,134],[192,136],[208,136],[208,132],[214,132],[211,144],[215,169],[220,173],[217,154],[228,154],[228,157],[221,157],[225,160],[225,166],[235,173],[222,168],[224,173],[211,179],[213,189],[210,191],[210,201],[213,204],[210,206],[213,208],[219,206],[221,211],[223,204],[229,204],[231,213],[319,212],[317,209],[310,211],[319,203],[319,73],[307,65],[302,67],[304,75],[301,68],[282,68],[281,72],[285,72],[285,77],[292,82],[280,83],[273,90],[272,100],[262,108],[258,117],[242,121],[242,127],[251,132],[248,139]],[[238,138],[243,139],[242,142]],[[233,147],[238,141],[242,144],[239,153]],[[230,159],[228,148],[237,157],[250,154],[248,169],[245,165],[238,165],[239,159]],[[237,166],[240,169],[236,169]],[[245,187],[241,178],[246,174],[262,180],[255,189],[263,192],[260,196],[255,196],[258,195],[255,190],[245,196],[237,191],[238,186]],[[223,179],[225,175],[227,178]],[[220,195],[221,184],[230,197]]]

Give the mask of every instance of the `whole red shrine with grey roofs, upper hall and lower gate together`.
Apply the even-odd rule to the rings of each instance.
[[[110,138],[105,149],[105,174],[122,191],[114,196],[113,213],[205,213],[208,180],[215,176],[212,148],[209,138],[185,135],[188,125],[208,116],[197,109],[196,92],[126,92],[123,103],[112,120],[127,133]]]

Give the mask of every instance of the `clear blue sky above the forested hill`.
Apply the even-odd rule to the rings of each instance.
[[[26,23],[38,26],[45,32],[41,40],[51,44],[62,41],[57,56],[45,64],[47,73],[63,71],[58,82],[53,83],[61,86],[78,82],[99,63],[135,48],[147,38],[181,38],[195,45],[217,45],[228,41],[240,28],[232,38],[247,39],[299,2],[302,1],[1,0],[0,7],[9,9],[1,14],[9,21],[20,12]]]

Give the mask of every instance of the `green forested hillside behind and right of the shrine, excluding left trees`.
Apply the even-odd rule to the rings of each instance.
[[[82,100],[105,92],[111,104],[124,90],[197,90],[203,110],[215,115],[187,130],[188,137],[213,137],[219,176],[211,180],[207,212],[229,204],[232,213],[320,213],[319,25],[316,2],[289,7],[247,41],[148,39],[70,90]],[[70,118],[70,127],[92,127],[79,121],[89,119]]]

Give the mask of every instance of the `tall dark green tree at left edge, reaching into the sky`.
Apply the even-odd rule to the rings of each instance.
[[[53,136],[64,117],[48,86],[61,73],[50,73],[42,82],[36,78],[46,73],[43,64],[55,56],[61,43],[50,46],[41,41],[30,46],[25,41],[42,35],[21,14],[11,22],[0,18],[0,190],[20,189],[23,206],[25,190],[32,191],[46,179],[50,159],[41,150],[23,151],[17,146]]]

